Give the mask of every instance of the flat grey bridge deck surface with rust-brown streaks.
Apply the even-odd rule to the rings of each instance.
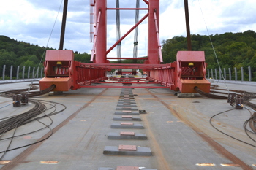
[[[0,89],[26,88],[25,83],[4,84]],[[226,88],[218,83],[219,88]],[[228,84],[228,88],[256,92],[254,85]],[[183,169],[256,169],[256,149],[219,133],[209,124],[211,116],[233,109],[226,100],[213,100],[200,95],[195,98],[177,98],[168,89],[132,89],[141,114],[144,129],[132,129],[135,134],[146,134],[147,140],[108,139],[110,132],[119,133],[120,129],[110,128],[114,123],[116,104],[121,93],[120,88],[82,88],[64,92],[66,96],[38,96],[37,99],[56,101],[65,104],[67,109],[51,117],[53,136],[31,147],[7,152],[4,160],[10,160],[1,169],[99,169],[100,167],[139,166],[146,169],[183,170]],[[101,96],[99,93],[102,93]],[[154,96],[152,96],[154,94]],[[156,98],[157,97],[157,98]],[[0,98],[0,107],[11,102],[9,98]],[[20,108],[12,106],[1,109],[1,117],[25,112],[33,104]],[[61,109],[61,106],[56,106]],[[231,136],[249,144],[256,145],[246,136],[244,120],[250,117],[248,110],[231,110],[214,118],[214,125]],[[42,120],[49,123],[50,120]],[[24,125],[17,133],[23,134],[42,124]],[[11,147],[29,144],[48,134],[48,129],[36,134],[15,138]],[[13,131],[10,131],[11,136]],[[255,139],[255,136],[252,136]],[[8,141],[2,141],[4,150]],[[119,144],[136,145],[151,149],[152,156],[116,156],[104,155],[105,146]],[[217,147],[221,150],[217,150]],[[222,166],[236,164],[223,152],[229,152],[245,166]],[[45,164],[41,161],[56,161]],[[214,166],[200,166],[200,163],[213,163]]]

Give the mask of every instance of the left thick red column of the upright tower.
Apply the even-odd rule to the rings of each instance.
[[[96,1],[95,14],[98,18],[99,11],[101,11],[99,28],[96,42],[96,58],[95,63],[106,63],[107,50],[107,0]]]

